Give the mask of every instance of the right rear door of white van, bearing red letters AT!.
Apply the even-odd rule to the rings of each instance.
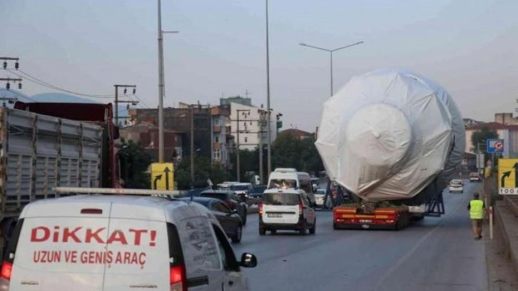
[[[163,209],[113,203],[104,290],[169,290],[171,269]]]

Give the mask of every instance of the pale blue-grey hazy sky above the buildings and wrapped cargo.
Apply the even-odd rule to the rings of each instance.
[[[335,92],[352,76],[405,68],[444,86],[464,118],[518,108],[516,0],[270,0],[268,10],[270,102],[284,128],[314,131],[330,96],[329,53],[301,42],[365,41],[333,53]],[[31,76],[95,95],[136,84],[140,106],[157,106],[156,1],[0,0],[0,21],[0,56]],[[266,106],[265,28],[264,0],[162,0],[162,29],[180,31],[164,35],[164,105],[248,92]],[[53,91],[23,84],[29,96]]]

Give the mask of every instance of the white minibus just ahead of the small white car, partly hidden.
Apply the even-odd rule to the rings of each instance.
[[[302,189],[310,198],[312,205],[316,203],[310,174],[298,172],[294,168],[276,168],[270,173],[268,189],[272,188]]]

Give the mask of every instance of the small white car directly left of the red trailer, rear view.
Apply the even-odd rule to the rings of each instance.
[[[259,235],[277,230],[296,230],[305,235],[315,233],[317,218],[308,195],[300,189],[272,188],[263,193],[259,205]]]

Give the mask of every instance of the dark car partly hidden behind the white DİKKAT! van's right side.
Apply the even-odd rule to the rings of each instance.
[[[181,200],[191,201],[191,198],[181,198]],[[215,198],[193,197],[192,201],[211,210],[215,218],[220,222],[226,235],[232,242],[240,242],[243,234],[243,222],[234,210],[230,210],[223,201]]]

